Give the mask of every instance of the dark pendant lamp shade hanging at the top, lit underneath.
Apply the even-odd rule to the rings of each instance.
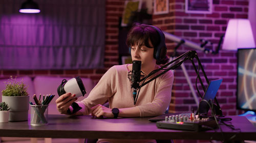
[[[39,13],[38,5],[32,0],[28,0],[22,4],[22,7],[19,9],[20,13]]]

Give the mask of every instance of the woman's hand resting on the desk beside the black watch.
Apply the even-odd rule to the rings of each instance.
[[[93,117],[96,116],[97,118],[114,118],[112,109],[102,106],[101,104],[92,107],[91,113]]]

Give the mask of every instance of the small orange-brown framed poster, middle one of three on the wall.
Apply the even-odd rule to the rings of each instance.
[[[169,0],[154,0],[154,14],[169,12]]]

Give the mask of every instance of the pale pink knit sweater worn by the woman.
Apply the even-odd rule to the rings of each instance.
[[[83,115],[89,115],[91,107],[109,101],[110,108],[138,107],[140,117],[153,117],[164,113],[172,94],[173,72],[168,71],[144,85],[140,90],[136,105],[134,105],[132,96],[131,81],[127,78],[128,72],[127,65],[111,67],[102,76],[90,95],[77,102],[82,107],[79,112],[82,112]],[[155,75],[157,74],[159,73]]]

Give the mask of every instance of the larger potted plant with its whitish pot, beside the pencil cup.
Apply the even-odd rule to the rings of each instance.
[[[9,121],[28,120],[29,96],[27,86],[23,81],[16,81],[16,77],[8,79],[5,90],[2,91],[2,101],[10,107]]]

